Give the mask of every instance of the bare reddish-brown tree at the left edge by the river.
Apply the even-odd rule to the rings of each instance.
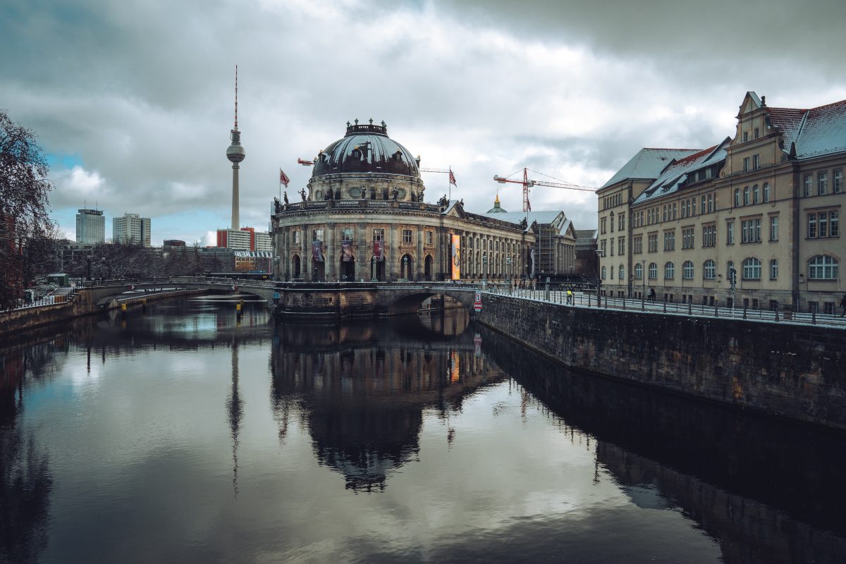
[[[25,249],[54,231],[48,170],[35,134],[0,110],[0,309],[12,307],[29,282]]]

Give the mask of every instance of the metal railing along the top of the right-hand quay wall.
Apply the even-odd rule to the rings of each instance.
[[[799,325],[825,325],[846,330],[846,318],[836,314],[821,314],[818,312],[797,312],[778,309],[750,309],[743,307],[726,307],[719,305],[700,305],[680,302],[659,302],[640,298],[612,298],[601,297],[597,304],[596,296],[591,293],[574,292],[569,300],[567,292],[561,290],[521,289],[506,287],[488,287],[485,293],[507,295],[515,299],[526,299],[552,304],[570,305],[573,307],[594,309],[617,309],[638,311],[646,314],[671,314],[695,317],[728,318],[736,320],[753,320],[768,323],[795,323]]]

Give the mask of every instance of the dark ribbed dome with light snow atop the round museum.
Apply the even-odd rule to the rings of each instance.
[[[372,121],[372,120],[371,120]],[[384,172],[419,177],[415,157],[387,136],[385,122],[347,124],[347,134],[316,157],[312,177],[342,172]]]

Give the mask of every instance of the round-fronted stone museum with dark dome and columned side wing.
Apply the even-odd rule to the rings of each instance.
[[[274,203],[278,280],[504,282],[580,272],[563,211],[508,213],[498,197],[484,214],[446,195],[426,203],[420,157],[388,137],[384,122],[348,123],[313,166],[301,201],[286,194]]]

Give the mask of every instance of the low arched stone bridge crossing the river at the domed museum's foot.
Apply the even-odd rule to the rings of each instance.
[[[452,282],[270,282],[228,278],[169,277],[107,281],[78,288],[91,309],[113,299],[143,296],[168,289],[252,294],[283,316],[376,317],[416,313],[427,298],[448,296],[471,311],[478,284]]]

